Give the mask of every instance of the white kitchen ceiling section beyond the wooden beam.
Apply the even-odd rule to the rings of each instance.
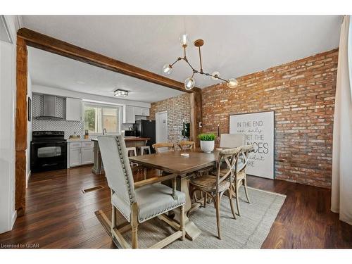
[[[87,94],[113,96],[113,91],[129,91],[120,99],[152,103],[182,94],[175,89],[152,84],[40,49],[28,48],[28,70],[32,84]]]

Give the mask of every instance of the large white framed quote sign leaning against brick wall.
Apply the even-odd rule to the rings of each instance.
[[[230,115],[230,134],[245,134],[246,144],[254,145],[246,172],[274,179],[275,112]]]

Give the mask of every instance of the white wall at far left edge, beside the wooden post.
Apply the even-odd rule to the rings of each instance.
[[[19,21],[5,15],[13,44],[0,42],[0,233],[15,221],[15,45]]]

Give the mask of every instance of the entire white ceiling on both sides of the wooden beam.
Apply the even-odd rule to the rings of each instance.
[[[203,70],[208,73],[218,70],[220,77],[227,79],[337,48],[341,15],[23,15],[23,24],[158,74],[165,63],[182,56],[178,38],[187,32],[191,42],[199,38],[205,41]],[[149,102],[178,94],[67,58],[52,54],[34,58],[32,54],[37,57],[39,51],[33,49],[30,57],[33,80],[41,84],[55,82],[56,87],[96,94],[106,94],[121,86],[136,91],[139,98],[133,100]],[[189,45],[187,57],[199,68],[198,51],[193,44]],[[181,61],[168,77],[183,82],[189,75],[190,68]],[[78,85],[80,80],[85,84]],[[216,83],[201,75],[196,75],[195,80],[201,88]]]

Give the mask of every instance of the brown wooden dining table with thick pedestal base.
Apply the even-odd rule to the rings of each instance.
[[[156,168],[163,172],[170,172],[177,175],[177,190],[186,194],[184,223],[188,239],[194,240],[199,234],[201,234],[199,227],[197,227],[187,216],[187,212],[192,207],[191,196],[189,194],[189,177],[194,175],[194,172],[214,166],[216,161],[218,161],[218,156],[218,150],[211,153],[203,153],[196,149],[194,151],[168,151],[130,157],[130,161],[133,163],[138,163],[147,168]],[[180,212],[175,210],[174,213],[174,220],[180,220]]]

